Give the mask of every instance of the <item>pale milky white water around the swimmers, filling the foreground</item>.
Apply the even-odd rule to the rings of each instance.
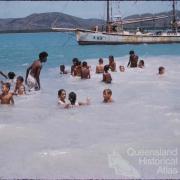
[[[128,57],[115,60],[126,67]],[[14,106],[0,106],[0,177],[179,178],[139,166],[126,153],[129,147],[180,147],[179,57],[144,60],[144,69],[111,73],[112,84],[94,73],[98,58],[88,60],[90,80],[60,75],[59,67],[43,69],[41,91],[14,97]],[[165,75],[157,75],[159,66],[166,68]],[[89,97],[91,104],[61,109],[61,88],[75,91],[79,101]],[[112,89],[114,103],[102,103],[105,88]],[[113,169],[109,154],[114,151],[120,158]]]

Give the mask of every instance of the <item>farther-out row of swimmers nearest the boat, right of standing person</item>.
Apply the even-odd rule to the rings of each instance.
[[[130,68],[144,68],[144,60],[140,60],[138,62],[138,56],[135,54],[133,50],[129,52],[129,62],[127,67]],[[90,68],[86,61],[81,62],[78,58],[74,58],[72,60],[73,65],[71,66],[71,75],[81,77],[81,79],[90,79]],[[120,72],[125,72],[125,67],[123,65],[119,66]],[[109,56],[109,63],[104,65],[103,59],[99,58],[99,64],[96,66],[96,73],[102,74],[102,81],[105,83],[111,83],[112,77],[111,73],[109,72],[116,72],[116,62],[114,60],[114,56]],[[164,74],[165,68],[159,67],[158,74]],[[68,71],[65,70],[65,65],[60,65],[60,74],[68,74]]]

